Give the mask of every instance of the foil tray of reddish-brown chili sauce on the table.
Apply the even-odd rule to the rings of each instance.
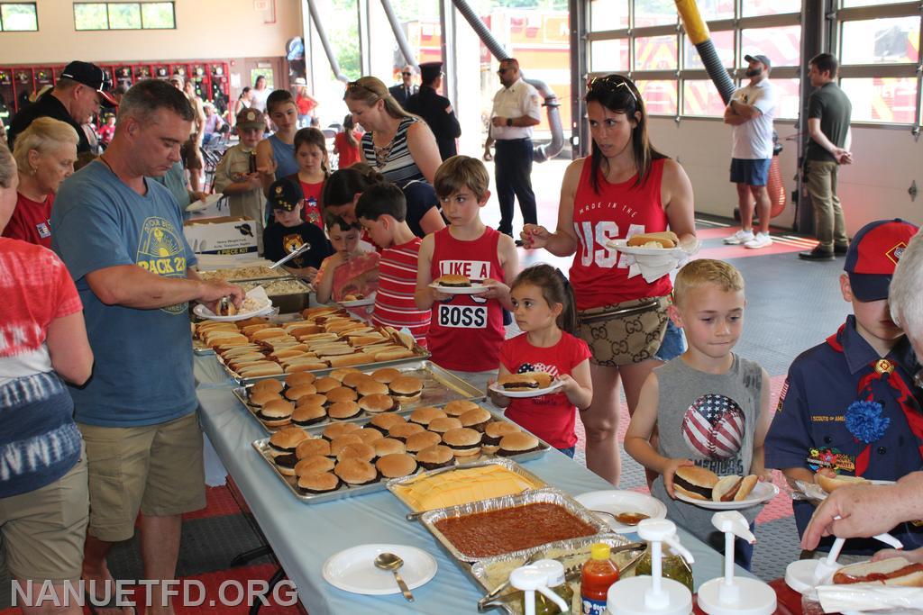
[[[545,488],[428,511],[427,530],[459,562],[527,557],[536,547],[609,532],[564,491]]]

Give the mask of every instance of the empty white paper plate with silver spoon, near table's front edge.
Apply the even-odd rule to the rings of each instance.
[[[394,553],[404,561],[401,576],[410,589],[425,585],[438,569],[436,558],[425,550],[405,545],[369,544],[342,550],[324,562],[324,580],[343,591],[368,596],[400,594],[394,574],[375,567],[380,553]]]

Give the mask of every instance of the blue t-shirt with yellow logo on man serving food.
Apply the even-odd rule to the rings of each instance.
[[[88,273],[105,267],[137,265],[186,278],[186,267],[195,265],[174,196],[146,184],[147,194],[138,195],[96,161],[67,178],[54,199],[52,248],[77,284],[96,358],[90,383],[70,387],[78,422],[154,425],[198,406],[188,304],[105,305],[87,283]]]

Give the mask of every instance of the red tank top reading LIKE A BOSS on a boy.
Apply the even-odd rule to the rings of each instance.
[[[503,281],[497,256],[500,233],[487,227],[476,240],[463,242],[449,228],[437,231],[433,242],[430,274],[466,276],[473,280]],[[451,370],[481,372],[497,369],[503,342],[503,309],[496,300],[454,295],[450,302],[436,302],[426,337],[433,361]]]

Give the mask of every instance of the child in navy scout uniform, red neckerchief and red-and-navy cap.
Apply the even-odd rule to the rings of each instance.
[[[853,313],[819,346],[792,363],[766,438],[766,467],[789,481],[812,482],[814,473],[896,480],[923,465],[923,391],[915,387],[917,358],[888,309],[894,268],[917,226],[877,220],[860,229],[840,276]],[[813,506],[794,503],[798,535]],[[905,549],[923,546],[923,527],[893,529]],[[832,538],[819,550],[829,550]],[[846,541],[845,552],[869,554],[882,543]]]

